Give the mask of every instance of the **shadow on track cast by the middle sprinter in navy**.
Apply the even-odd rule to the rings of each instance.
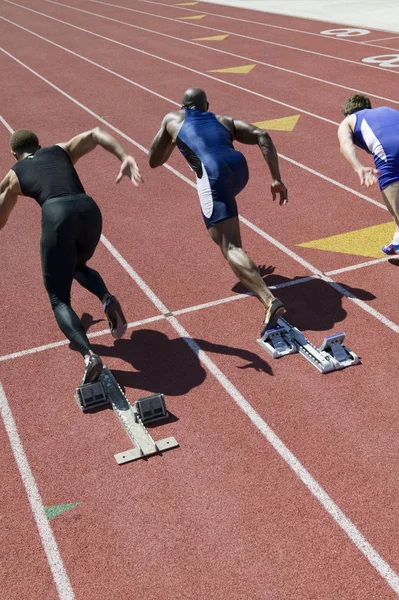
[[[274,273],[273,266],[260,266],[259,269],[267,285],[281,285],[302,279],[302,277],[289,279],[277,275]],[[375,298],[374,294],[361,288],[353,288],[343,283],[339,285],[360,300],[368,301]],[[232,291],[245,294],[248,290],[238,283]],[[278,288],[273,290],[273,293],[284,302],[287,309],[286,319],[298,329],[326,331],[334,327],[335,323],[344,321],[347,316],[342,304],[345,296],[326,281],[316,277],[306,283]]]

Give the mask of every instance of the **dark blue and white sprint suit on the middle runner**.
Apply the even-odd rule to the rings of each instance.
[[[211,112],[185,109],[176,145],[197,177],[205,225],[238,215],[236,196],[248,182],[248,165],[231,132]]]

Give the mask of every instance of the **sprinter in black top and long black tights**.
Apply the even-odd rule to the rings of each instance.
[[[100,274],[86,264],[100,240],[102,216],[85,193],[74,164],[101,146],[122,162],[116,183],[127,175],[136,186],[142,181],[138,166],[121,144],[99,127],[46,148],[41,148],[35,133],[19,129],[12,134],[10,145],[17,162],[0,184],[0,229],[7,223],[18,196],[30,196],[42,207],[44,285],[61,331],[85,359],[82,384],[94,381],[101,373],[102,361],[93,352],[83,324],[71,308],[72,280],[102,302],[114,338],[124,335],[127,323]]]

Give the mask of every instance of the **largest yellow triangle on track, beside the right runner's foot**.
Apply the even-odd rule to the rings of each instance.
[[[354,254],[356,256],[370,256],[382,258],[384,255],[381,246],[386,246],[392,240],[395,224],[391,221],[382,225],[373,225],[348,233],[340,233],[331,237],[297,244],[301,248],[314,248],[316,250],[330,250],[341,254]]]

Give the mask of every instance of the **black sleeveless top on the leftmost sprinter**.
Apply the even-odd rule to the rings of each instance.
[[[61,146],[40,148],[12,167],[24,196],[40,206],[48,198],[84,194],[85,190],[69,154]]]

